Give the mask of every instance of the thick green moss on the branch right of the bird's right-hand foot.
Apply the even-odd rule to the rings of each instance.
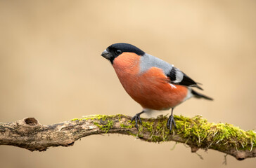
[[[184,138],[201,144],[218,144],[219,141],[231,144],[241,149],[255,147],[256,134],[253,131],[245,132],[239,127],[224,123],[208,123],[207,120],[196,116],[185,118],[176,116],[177,134]]]

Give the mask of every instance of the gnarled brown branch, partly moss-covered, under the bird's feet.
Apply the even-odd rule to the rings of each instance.
[[[167,117],[143,118],[139,131],[131,117],[86,116],[53,125],[41,125],[35,118],[0,123],[0,145],[18,146],[30,151],[46,151],[51,146],[72,146],[77,139],[92,134],[127,134],[148,142],[176,141],[187,144],[191,152],[214,149],[237,160],[256,157],[256,133],[223,123],[208,123],[200,116],[174,116],[177,127],[169,134]]]

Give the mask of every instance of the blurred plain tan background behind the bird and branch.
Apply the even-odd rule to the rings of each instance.
[[[190,99],[176,115],[256,128],[255,1],[0,0],[0,122],[49,125],[90,114],[141,111],[124,92],[108,45],[132,43],[203,83],[214,102]],[[30,152],[0,146],[1,167],[255,167],[216,151],[118,134]]]

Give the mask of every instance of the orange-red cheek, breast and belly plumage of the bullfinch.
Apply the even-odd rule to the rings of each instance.
[[[133,52],[123,52],[115,58],[113,67],[124,90],[144,109],[165,110],[177,106],[188,94],[187,87],[169,83],[162,69],[151,67],[140,72],[140,58]]]

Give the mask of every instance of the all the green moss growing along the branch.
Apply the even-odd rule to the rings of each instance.
[[[106,133],[113,127],[117,120],[120,122],[120,127],[124,129],[129,130],[134,127],[135,122],[130,123],[129,120],[124,120],[124,122],[122,122],[122,118],[127,119],[126,116],[118,114],[115,116],[86,116],[80,119],[74,118],[72,121],[94,120],[94,125],[97,125]],[[133,134],[129,131],[128,134],[142,138],[144,133],[150,132],[150,138],[146,138],[148,141],[169,141],[172,137],[167,129],[167,119],[167,116],[160,116],[156,119],[141,118],[142,125],[139,124],[138,134]],[[249,150],[256,147],[256,133],[252,130],[244,131],[239,127],[224,123],[208,123],[207,120],[201,118],[201,116],[195,116],[193,118],[174,116],[174,120],[177,127],[172,130],[171,134],[179,134],[184,139],[187,139],[187,141],[193,141],[193,143],[196,143],[198,146],[229,144],[231,146],[236,146],[238,149]]]

